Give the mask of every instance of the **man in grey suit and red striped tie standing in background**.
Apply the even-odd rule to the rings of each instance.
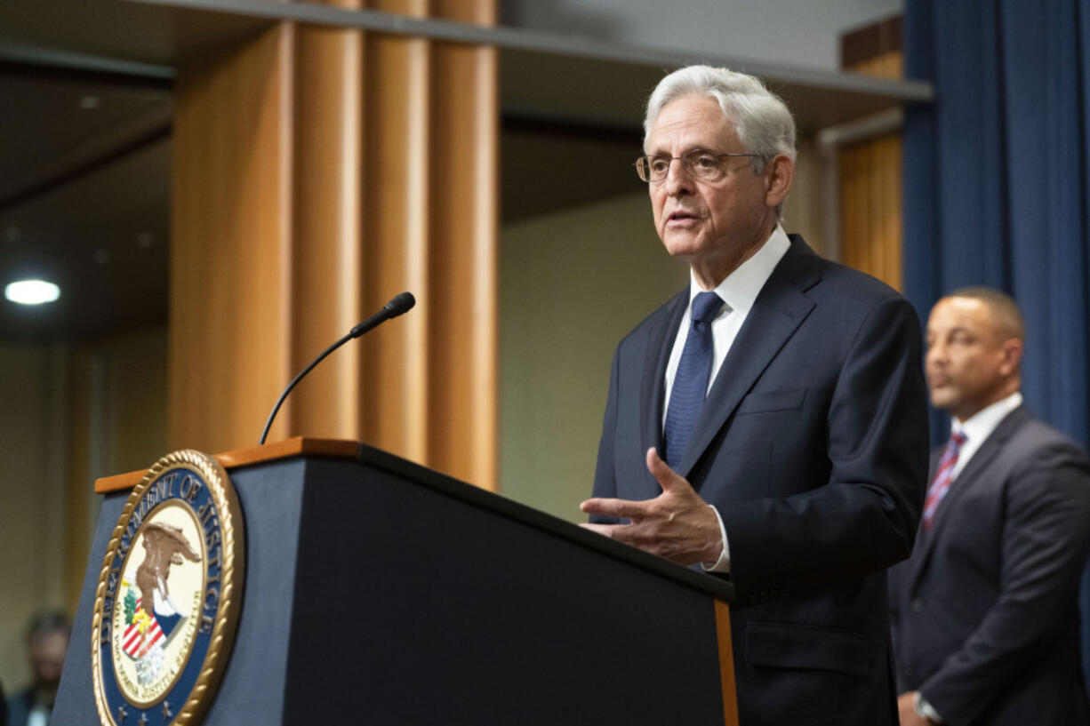
[[[931,311],[931,400],[953,426],[916,549],[891,572],[903,726],[1090,724],[1077,604],[1090,461],[1022,406],[1024,340],[996,290]]]

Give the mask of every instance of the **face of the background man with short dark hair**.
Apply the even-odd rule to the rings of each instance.
[[[931,402],[959,421],[1008,391],[1017,365],[988,305],[974,298],[944,298],[928,318],[925,359]]]

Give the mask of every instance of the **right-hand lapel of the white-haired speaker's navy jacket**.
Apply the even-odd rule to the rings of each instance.
[[[791,247],[758,294],[700,410],[693,440],[678,469],[682,476],[689,476],[746,392],[813,310],[804,291],[821,279],[818,264],[818,255],[791,235]]]

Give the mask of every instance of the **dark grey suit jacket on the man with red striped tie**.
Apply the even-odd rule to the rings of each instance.
[[[950,726],[1090,723],[1077,605],[1088,549],[1090,462],[1012,411],[891,572],[900,690]]]

